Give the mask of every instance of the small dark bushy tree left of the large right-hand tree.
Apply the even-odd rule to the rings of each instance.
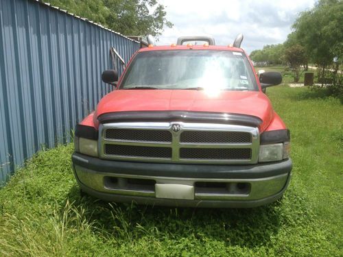
[[[297,44],[288,47],[285,49],[285,60],[294,73],[294,82],[299,82],[300,66],[307,63],[305,47]]]

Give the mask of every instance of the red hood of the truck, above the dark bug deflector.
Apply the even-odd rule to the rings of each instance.
[[[273,118],[268,97],[258,91],[206,90],[114,90],[98,104],[97,117],[108,112],[184,110],[194,112],[224,112],[259,117],[263,132]]]

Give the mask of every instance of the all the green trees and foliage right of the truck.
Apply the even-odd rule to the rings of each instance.
[[[294,82],[300,78],[300,65],[312,62],[318,67],[318,82],[328,86],[331,94],[343,102],[343,1],[320,0],[314,8],[299,14],[294,22],[293,32],[275,51],[268,54],[270,46],[252,51],[250,58],[258,66],[287,63],[294,73]],[[274,61],[273,61],[274,60]],[[340,71],[341,70],[341,71]]]

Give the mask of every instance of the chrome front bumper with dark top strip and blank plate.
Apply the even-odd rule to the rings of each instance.
[[[279,199],[292,160],[254,165],[122,162],[74,153],[82,190],[106,201],[158,206],[251,208]]]

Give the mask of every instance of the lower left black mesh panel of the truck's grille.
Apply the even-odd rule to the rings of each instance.
[[[140,147],[131,145],[105,145],[105,154],[145,158],[171,158],[169,147]]]

